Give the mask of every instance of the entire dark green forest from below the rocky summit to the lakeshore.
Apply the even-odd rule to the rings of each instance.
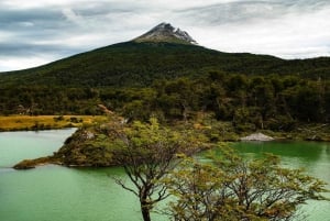
[[[37,68],[0,74],[0,114],[195,119],[237,130],[292,130],[330,119],[330,58],[284,60],[196,45],[120,43]]]

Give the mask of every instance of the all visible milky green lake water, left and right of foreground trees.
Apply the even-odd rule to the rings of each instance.
[[[110,178],[125,178],[121,168],[74,169],[42,166],[10,167],[24,158],[50,155],[74,130],[0,133],[0,221],[141,221],[138,199]],[[330,183],[330,144],[238,143],[246,157],[261,152],[279,154],[284,165],[306,167]],[[329,186],[330,187],[330,186]],[[330,221],[329,202],[302,208],[310,221]],[[155,221],[166,220],[153,216]]]

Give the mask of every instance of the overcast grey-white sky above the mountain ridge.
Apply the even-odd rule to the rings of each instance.
[[[0,71],[129,41],[161,22],[223,52],[330,56],[330,0],[1,0]]]

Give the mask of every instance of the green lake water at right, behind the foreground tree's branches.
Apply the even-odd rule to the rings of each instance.
[[[263,153],[280,156],[289,168],[304,168],[308,175],[328,183],[330,189],[330,143],[315,142],[241,142],[233,146],[246,157],[260,157]],[[330,194],[326,195],[330,198]],[[300,208],[308,221],[330,221],[329,201],[309,201]]]

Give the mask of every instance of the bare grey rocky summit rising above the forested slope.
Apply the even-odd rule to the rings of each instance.
[[[133,40],[134,42],[172,42],[182,44],[197,44],[185,31],[172,26],[169,23],[161,23],[151,31]]]

